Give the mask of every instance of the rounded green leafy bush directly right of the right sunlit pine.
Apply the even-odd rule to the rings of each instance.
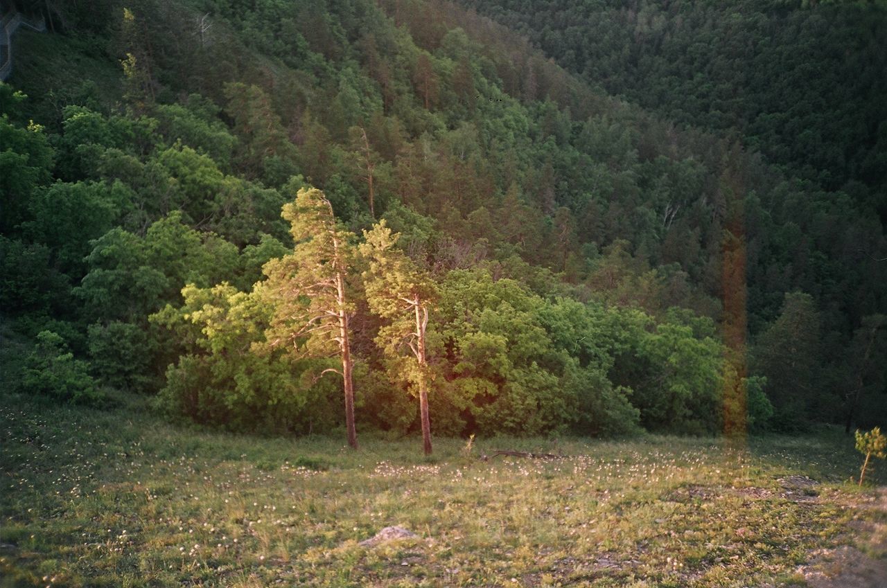
[[[577,390],[561,388],[567,357],[539,320],[544,307],[487,272],[452,271],[444,282],[441,334],[453,357],[444,389],[469,429],[538,434],[575,419]]]

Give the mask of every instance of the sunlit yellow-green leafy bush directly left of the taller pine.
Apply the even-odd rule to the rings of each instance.
[[[255,353],[262,345],[271,308],[255,294],[221,284],[189,285],[184,304],[167,306],[152,316],[184,345],[169,365],[166,385],[156,404],[172,414],[230,430],[302,430],[310,422],[328,426],[323,396],[329,388],[302,388],[284,349]]]

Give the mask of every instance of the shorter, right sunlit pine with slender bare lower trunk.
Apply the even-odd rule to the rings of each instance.
[[[431,423],[428,417],[428,311],[437,298],[434,282],[395,248],[398,233],[392,234],[385,221],[364,231],[360,252],[369,260],[364,272],[366,300],[370,310],[388,319],[376,339],[385,354],[397,359],[409,348],[416,361],[404,364],[403,375],[418,389],[422,445],[431,453]]]

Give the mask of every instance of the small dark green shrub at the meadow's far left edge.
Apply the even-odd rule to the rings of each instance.
[[[25,360],[19,387],[28,395],[50,396],[73,404],[105,404],[106,396],[88,372],[88,364],[74,358],[57,333],[37,334],[34,351]]]

